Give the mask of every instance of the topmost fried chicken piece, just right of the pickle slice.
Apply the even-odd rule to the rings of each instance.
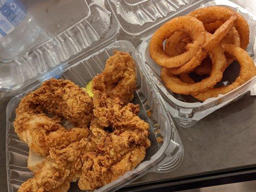
[[[129,53],[114,51],[114,55],[106,61],[102,74],[108,97],[117,97],[125,104],[132,100],[137,80],[135,63]]]

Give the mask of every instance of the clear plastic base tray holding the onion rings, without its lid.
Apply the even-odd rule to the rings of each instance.
[[[200,2],[200,3],[199,3]],[[250,54],[254,61],[255,58],[255,37],[256,37],[256,17],[252,13],[244,10],[242,7],[228,1],[228,0],[201,0],[189,7],[189,11],[184,9],[179,12],[178,15],[184,15],[191,12],[199,7],[206,7],[212,5],[224,5],[234,9],[235,12],[239,12],[247,21],[250,27],[250,43],[247,47],[247,52]],[[221,14],[221,13],[220,13]],[[175,15],[177,16],[177,14]],[[169,17],[169,19],[173,16]],[[157,25],[158,27],[161,25]],[[232,101],[236,101],[245,93],[250,91],[256,84],[256,77],[242,84],[238,88],[230,91],[225,95],[219,95],[218,97],[209,98],[204,102],[194,99],[192,96],[184,96],[172,93],[168,90],[160,78],[161,67],[158,66],[149,55],[149,43],[151,36],[145,38],[140,46],[138,47],[138,54],[140,56],[141,62],[146,64],[147,71],[152,75],[153,81],[157,84],[160,92],[165,98],[166,107],[171,113],[173,118],[177,121],[181,127],[191,127],[198,120],[203,119],[205,116],[214,112],[218,108],[221,108]],[[221,84],[227,85],[234,81],[235,75],[239,74],[239,64],[234,62],[230,67],[224,72],[224,76]]]

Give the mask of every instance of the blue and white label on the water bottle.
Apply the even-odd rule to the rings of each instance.
[[[26,8],[19,0],[0,0],[0,37],[11,33],[26,17]]]

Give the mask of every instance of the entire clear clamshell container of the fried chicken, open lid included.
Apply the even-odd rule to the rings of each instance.
[[[48,2],[48,1],[46,1]],[[69,1],[58,1],[58,3]],[[41,2],[43,3],[43,2]],[[80,0],[73,3],[81,3]],[[74,6],[74,5],[73,5]],[[84,87],[97,73],[102,72],[106,60],[114,50],[128,51],[136,61],[137,84],[133,103],[140,104],[139,116],[150,125],[151,146],[143,162],[97,192],[113,192],[148,172],[168,172],[179,166],[183,158],[183,146],[170,113],[156,85],[151,81],[145,66],[141,64],[136,49],[128,41],[117,41],[120,25],[104,0],[87,0],[80,4],[88,11],[84,18],[68,26],[64,31],[49,38],[15,58],[9,64],[20,73],[11,79],[13,86],[0,86],[5,96],[14,96],[7,106],[6,114],[6,162],[9,192],[33,176],[27,168],[28,146],[14,132],[15,109],[26,93],[35,90],[42,82],[52,77],[64,78]],[[40,7],[38,7],[39,9]],[[54,8],[54,7],[53,7]],[[66,8],[68,9],[68,8]],[[54,9],[53,9],[54,10]],[[70,12],[72,14],[72,12]],[[56,43],[58,42],[58,43]],[[54,46],[51,46],[52,43]],[[47,48],[51,49],[47,49]],[[40,54],[38,54],[40,53]],[[25,59],[26,58],[26,59]],[[17,60],[20,63],[17,64]],[[4,63],[1,63],[5,65]],[[2,75],[0,74],[0,77]],[[151,111],[149,117],[147,111]],[[157,142],[157,137],[162,142]],[[80,191],[72,185],[70,192]]]

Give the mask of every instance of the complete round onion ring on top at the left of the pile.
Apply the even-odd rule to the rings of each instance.
[[[193,43],[188,51],[176,57],[169,57],[164,52],[163,41],[176,31],[187,33]],[[162,67],[180,67],[191,60],[204,43],[205,27],[202,22],[194,17],[181,16],[168,21],[155,31],[149,44],[149,52],[151,58]]]

